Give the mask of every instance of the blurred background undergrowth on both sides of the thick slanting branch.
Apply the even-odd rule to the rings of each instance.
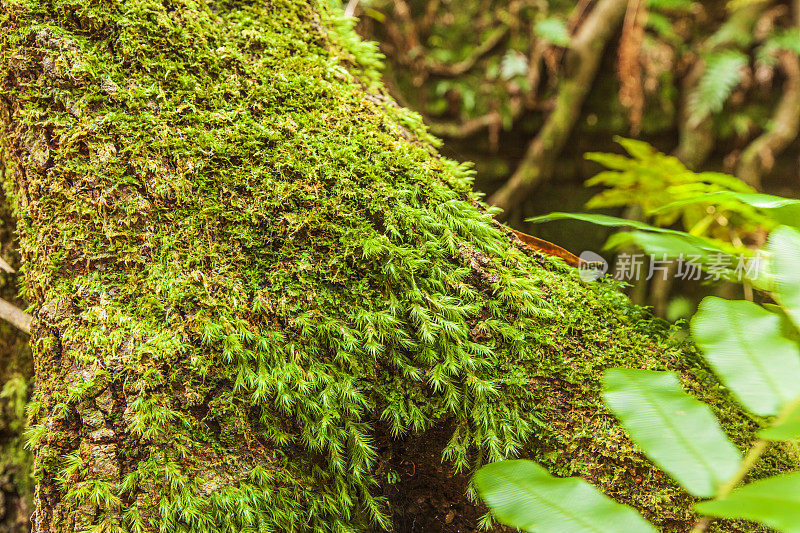
[[[702,166],[716,152],[715,165],[733,173],[747,145],[774,128],[784,84],[795,75],[780,61],[782,54],[800,52],[791,3],[641,3],[638,22],[626,21],[608,43],[573,138],[634,132],[672,149],[685,136],[688,146],[679,154],[685,164]],[[505,158],[505,167],[486,165],[479,174],[478,186],[492,192],[496,185],[487,181],[513,172],[518,141],[532,139],[547,120],[559,83],[573,68],[572,38],[597,4],[365,0],[356,15],[361,33],[386,55],[387,85],[426,118],[446,147],[448,139],[471,137],[479,142],[465,147],[466,159],[482,159],[484,142]],[[636,24],[641,37],[628,38]],[[699,134],[707,139],[696,143],[686,132],[706,120]],[[501,146],[504,132],[513,139],[509,146]],[[779,151],[764,155],[767,171]]]

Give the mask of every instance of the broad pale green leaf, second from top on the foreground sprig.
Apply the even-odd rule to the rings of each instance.
[[[710,296],[691,331],[714,373],[753,413],[776,415],[800,395],[800,349],[781,335],[779,315]]]

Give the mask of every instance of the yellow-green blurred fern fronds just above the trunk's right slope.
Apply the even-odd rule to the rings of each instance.
[[[605,189],[586,207],[636,206],[643,220],[556,212],[530,221],[574,219],[632,228],[613,234],[605,248],[636,246],[652,255],[681,260],[690,254],[700,267],[716,269],[717,279],[728,280],[741,279],[750,271],[740,258],[749,261],[756,256],[769,231],[782,224],[800,229],[800,200],[758,193],[727,174],[693,172],[643,141],[620,138],[618,142],[629,156],[586,155],[609,169],[587,181],[587,186]]]

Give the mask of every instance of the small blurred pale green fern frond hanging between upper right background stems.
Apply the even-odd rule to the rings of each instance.
[[[711,113],[718,113],[739,84],[747,56],[737,50],[714,52],[706,57],[706,68],[697,89],[689,97],[690,122],[699,124]]]

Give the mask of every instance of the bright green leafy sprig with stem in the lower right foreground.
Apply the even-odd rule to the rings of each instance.
[[[692,336],[711,369],[764,427],[745,455],[712,410],[687,394],[674,373],[617,368],[603,377],[604,402],[631,439],[687,493],[706,499],[695,504],[706,516],[693,533],[706,531],[712,517],[798,531],[800,471],[757,481],[749,477],[771,445],[798,451],[800,217],[794,226],[772,232],[768,267],[750,279],[769,289],[778,306],[709,297],[691,322]],[[749,482],[739,487],[743,481]],[[600,532],[619,529],[620,523],[625,531],[655,531],[641,515],[586,481],[553,478],[528,461],[487,465],[475,483],[499,520],[525,531]],[[573,504],[576,498],[578,505]]]

